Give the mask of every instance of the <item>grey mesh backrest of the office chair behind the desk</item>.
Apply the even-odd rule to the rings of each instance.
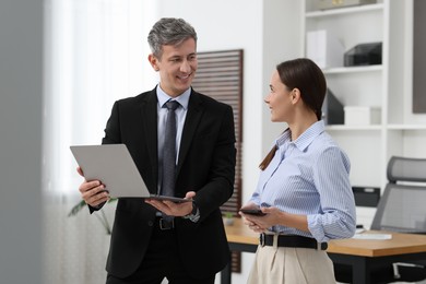
[[[392,156],[371,229],[426,234],[426,158]]]

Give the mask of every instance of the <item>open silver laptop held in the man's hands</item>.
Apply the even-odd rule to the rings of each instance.
[[[100,180],[113,198],[189,202],[191,199],[151,194],[125,144],[72,145],[86,180]]]

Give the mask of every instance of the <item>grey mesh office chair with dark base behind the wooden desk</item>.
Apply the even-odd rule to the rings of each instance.
[[[426,234],[426,158],[392,156],[387,168],[388,184],[380,198],[370,229]],[[336,268],[335,268],[336,269]],[[352,271],[336,270],[336,280],[350,282]],[[426,280],[426,260],[383,264],[371,273],[372,283]]]

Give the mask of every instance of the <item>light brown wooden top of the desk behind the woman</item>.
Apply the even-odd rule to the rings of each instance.
[[[230,226],[225,226],[229,242],[258,245],[259,235],[235,218]],[[360,257],[384,257],[415,252],[426,252],[426,235],[400,234],[369,230],[363,234],[391,234],[391,239],[333,239],[329,241],[328,252]]]

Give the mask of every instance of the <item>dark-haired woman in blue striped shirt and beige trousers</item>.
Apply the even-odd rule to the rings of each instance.
[[[260,164],[256,191],[240,214],[260,233],[249,284],[335,283],[327,241],[355,234],[350,159],[324,131],[327,82],[311,60],[280,63],[264,102],[288,128]]]

